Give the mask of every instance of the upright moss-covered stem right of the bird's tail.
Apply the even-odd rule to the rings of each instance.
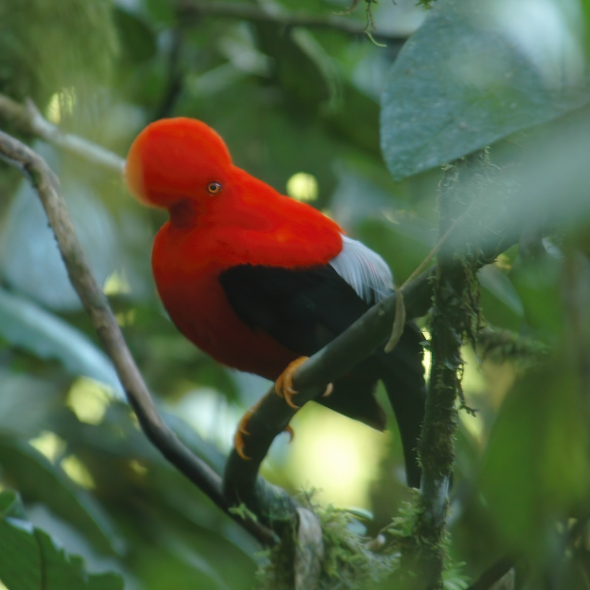
[[[469,217],[466,221],[471,226],[471,235],[454,233],[445,240],[432,278],[432,363],[418,448],[422,494],[412,532],[413,544],[404,555],[406,569],[421,572],[421,583],[428,590],[442,590],[444,526],[453,473],[457,401],[464,407],[461,345],[464,338],[474,343],[480,327],[476,273],[486,263],[487,255],[479,244],[486,235],[497,235],[499,231],[491,222],[494,217],[486,212],[506,206],[510,196],[506,191],[496,194],[491,190],[496,171],[487,152],[477,152],[447,166],[439,187],[439,235],[448,235],[455,220],[464,215]]]

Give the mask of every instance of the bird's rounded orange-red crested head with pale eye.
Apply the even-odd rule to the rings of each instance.
[[[149,124],[129,149],[125,177],[139,201],[173,211],[202,205],[224,190],[230,152],[211,127],[176,117]]]

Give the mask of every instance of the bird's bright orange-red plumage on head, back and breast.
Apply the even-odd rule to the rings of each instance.
[[[218,277],[242,264],[323,266],[342,250],[340,227],[234,166],[221,137],[194,119],[146,127],[131,146],[126,178],[140,201],[170,212],[152,266],[173,322],[219,362],[276,379],[299,355],[241,322]],[[221,185],[217,194],[211,183]]]

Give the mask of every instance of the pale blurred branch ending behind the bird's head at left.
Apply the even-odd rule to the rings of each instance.
[[[124,158],[110,152],[96,143],[72,133],[63,133],[53,123],[44,119],[31,100],[26,105],[19,104],[5,94],[0,94],[0,119],[13,124],[20,132],[40,137],[48,143],[64,149],[66,152],[88,160],[89,162],[120,174],[125,165]]]

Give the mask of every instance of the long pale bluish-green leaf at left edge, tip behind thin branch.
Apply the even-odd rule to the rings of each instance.
[[[57,359],[72,375],[86,375],[122,395],[107,356],[83,333],[31,301],[0,289],[0,336],[42,359]]]

